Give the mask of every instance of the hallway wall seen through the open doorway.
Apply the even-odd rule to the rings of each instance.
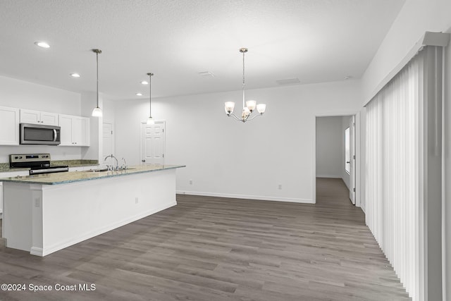
[[[342,117],[316,118],[316,177],[342,178]]]

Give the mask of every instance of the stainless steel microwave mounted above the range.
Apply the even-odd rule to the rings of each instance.
[[[56,125],[20,123],[21,145],[59,145],[61,128]]]

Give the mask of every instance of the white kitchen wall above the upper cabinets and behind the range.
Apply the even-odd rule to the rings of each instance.
[[[69,115],[81,114],[80,94],[0,76],[0,106]],[[0,162],[9,154],[50,153],[52,160],[80,159],[80,147],[20,145],[0,147]]]

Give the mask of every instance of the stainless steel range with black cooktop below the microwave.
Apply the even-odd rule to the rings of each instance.
[[[10,154],[10,168],[30,168],[30,175],[69,171],[67,165],[50,166],[50,154]]]

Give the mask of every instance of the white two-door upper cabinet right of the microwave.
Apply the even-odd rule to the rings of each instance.
[[[89,118],[59,114],[61,146],[89,147]]]

